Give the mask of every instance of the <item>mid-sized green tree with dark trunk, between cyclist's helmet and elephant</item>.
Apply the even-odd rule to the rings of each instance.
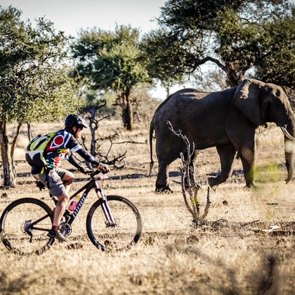
[[[139,30],[117,26],[115,31],[81,30],[72,45],[78,60],[77,71],[87,77],[92,89],[118,93],[123,125],[132,130],[133,112],[130,92],[139,83],[149,81],[145,64],[140,62]]]

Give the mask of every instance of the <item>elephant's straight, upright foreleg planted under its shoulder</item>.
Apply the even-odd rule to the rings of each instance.
[[[247,187],[254,186],[254,166],[255,166],[254,150],[255,150],[254,141],[252,145],[244,146],[240,148],[239,150]]]

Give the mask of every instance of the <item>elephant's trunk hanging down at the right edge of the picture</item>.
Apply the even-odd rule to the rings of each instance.
[[[294,128],[288,128],[292,129],[289,130],[290,132],[288,132],[285,127],[281,127],[281,129],[285,134],[285,158],[288,171],[288,177],[285,179],[285,181],[288,183],[292,179],[294,173],[295,130],[293,130]]]

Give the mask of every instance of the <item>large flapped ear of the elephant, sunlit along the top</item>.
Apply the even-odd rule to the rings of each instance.
[[[245,79],[236,89],[234,105],[254,124],[262,125],[261,90],[264,83]]]

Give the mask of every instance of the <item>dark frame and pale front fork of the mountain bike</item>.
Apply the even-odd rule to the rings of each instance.
[[[96,173],[95,173],[96,174]],[[86,197],[87,195],[89,194],[89,191],[91,189],[95,189],[95,192],[97,194],[97,197],[98,199],[102,199],[103,200],[103,203],[102,203],[102,208],[103,208],[103,212],[104,212],[104,215],[105,215],[105,218],[106,218],[106,226],[109,227],[109,226],[112,226],[114,227],[115,229],[117,229],[117,224],[115,222],[115,219],[110,211],[110,207],[108,206],[108,203],[107,203],[107,197],[105,196],[105,194],[103,193],[103,190],[102,188],[99,186],[98,184],[98,180],[97,178],[92,178],[88,183],[86,183],[81,189],[79,189],[78,191],[76,191],[71,197],[70,197],[70,200],[73,199],[75,196],[77,196],[79,193],[83,192],[85,190],[85,192],[83,193],[81,199],[79,200],[75,210],[73,211],[72,214],[68,214],[68,218],[66,218],[67,216],[67,211],[65,211],[65,213],[63,214],[63,216],[66,218],[65,220],[65,223],[67,223],[68,225],[71,226],[71,224],[73,223],[75,217],[77,216],[79,210],[81,209],[83,203],[85,202],[86,200]],[[57,200],[54,200],[55,204],[57,204]],[[54,211],[52,211],[51,214],[54,214]],[[50,230],[48,229],[42,229],[42,228],[37,228],[37,227],[34,227],[35,224],[39,223],[40,221],[42,221],[43,219],[47,218],[49,216],[49,214],[39,218],[38,220],[30,223],[26,228],[25,228],[25,231],[29,231],[30,229],[33,229],[33,230],[39,230],[39,231],[46,231],[46,232],[49,232]],[[67,220],[68,219],[68,220]]]

